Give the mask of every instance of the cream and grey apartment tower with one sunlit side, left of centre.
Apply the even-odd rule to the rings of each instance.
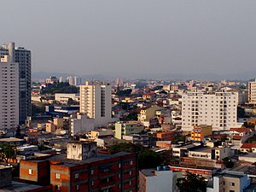
[[[95,119],[95,125],[107,125],[112,119],[111,85],[106,82],[85,82],[80,85],[80,113]]]

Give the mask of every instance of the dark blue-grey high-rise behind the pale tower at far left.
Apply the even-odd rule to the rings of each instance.
[[[31,116],[31,51],[15,47],[15,43],[2,45],[0,56],[9,55],[9,62],[19,63],[19,123]]]

